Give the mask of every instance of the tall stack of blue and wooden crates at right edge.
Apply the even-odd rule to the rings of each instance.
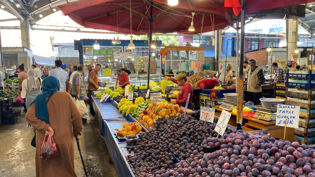
[[[300,106],[299,128],[294,140],[300,144],[315,144],[315,72],[312,70],[286,73],[286,105]],[[297,89],[296,87],[300,87]],[[314,100],[314,101],[313,101]]]

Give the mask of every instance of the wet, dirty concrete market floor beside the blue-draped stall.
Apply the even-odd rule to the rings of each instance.
[[[88,105],[89,106],[89,105]],[[23,110],[23,107],[14,107]],[[118,176],[115,165],[109,163],[108,149],[100,136],[96,119],[91,114],[85,116],[82,136],[79,136],[83,161],[88,176]],[[35,148],[31,146],[34,129],[27,128],[25,113],[21,111],[18,123],[0,126],[0,176],[1,177],[34,177]],[[84,177],[83,165],[74,143],[74,166],[78,177]]]

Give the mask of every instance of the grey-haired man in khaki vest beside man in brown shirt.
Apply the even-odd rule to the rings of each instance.
[[[86,94],[86,86],[84,82],[84,72],[85,72],[85,66],[79,65],[77,67],[77,72],[73,74],[72,79],[72,89],[71,89],[71,95],[72,97],[80,100],[84,100],[84,96]],[[72,75],[71,75],[72,76]],[[86,123],[86,118],[82,118],[82,122]]]

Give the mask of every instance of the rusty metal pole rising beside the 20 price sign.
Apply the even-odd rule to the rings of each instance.
[[[242,129],[243,123],[243,62],[244,62],[244,50],[245,50],[245,18],[246,18],[246,0],[242,0],[242,19],[241,19],[241,52],[239,61],[239,75],[238,75],[238,95],[237,95],[237,118],[236,129]]]

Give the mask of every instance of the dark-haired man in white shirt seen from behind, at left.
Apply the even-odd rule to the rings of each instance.
[[[60,82],[59,91],[67,92],[69,88],[69,76],[68,73],[61,68],[61,65],[61,60],[55,60],[55,69],[49,71],[49,76],[57,77]]]

